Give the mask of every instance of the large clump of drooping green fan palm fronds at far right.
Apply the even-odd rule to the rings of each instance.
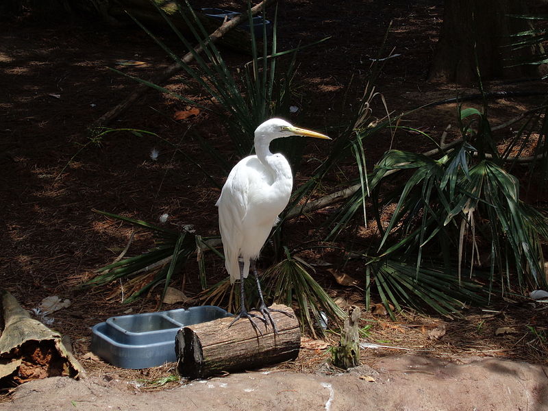
[[[519,182],[503,168],[508,159],[497,151],[486,116],[466,108],[459,119],[461,140],[447,151],[440,147],[438,160],[390,150],[369,176],[381,239],[366,256],[366,298],[375,284],[391,315],[389,302],[397,310],[404,303],[452,316],[465,303],[486,303],[498,279],[503,292],[545,286],[547,219],[519,199]],[[396,184],[383,190],[395,175]],[[329,235],[346,227],[364,201],[362,188],[338,210]],[[393,211],[385,227],[387,207]],[[479,271],[480,249],[489,253],[487,273]],[[487,288],[465,279],[465,269],[471,279],[486,277]]]

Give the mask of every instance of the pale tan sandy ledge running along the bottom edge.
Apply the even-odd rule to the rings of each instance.
[[[53,377],[23,384],[0,403],[0,410],[78,409],[541,411],[548,409],[548,367],[391,356],[349,373],[238,373],[147,393],[118,379]]]

